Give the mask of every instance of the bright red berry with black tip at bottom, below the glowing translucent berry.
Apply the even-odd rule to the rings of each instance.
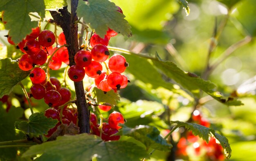
[[[108,85],[111,88],[116,88],[116,89],[120,89],[121,85],[124,82],[123,76],[117,72],[113,72],[109,74],[107,80],[108,80]]]

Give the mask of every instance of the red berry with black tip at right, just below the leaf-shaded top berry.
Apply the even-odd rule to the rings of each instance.
[[[98,44],[92,48],[92,59],[97,62],[103,62],[108,59],[109,51],[105,45]]]

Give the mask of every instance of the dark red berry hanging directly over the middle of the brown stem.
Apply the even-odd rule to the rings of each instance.
[[[85,76],[85,70],[83,69],[83,67],[72,65],[67,71],[67,74],[74,82],[80,82]]]

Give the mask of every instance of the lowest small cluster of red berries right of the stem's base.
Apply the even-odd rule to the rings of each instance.
[[[112,112],[108,116],[108,122],[102,123],[101,131],[99,128],[100,124],[98,124],[97,116],[94,113],[90,114],[90,128],[92,134],[100,136],[104,141],[120,139],[119,135],[112,136],[116,134],[121,128],[121,126],[118,126],[119,123],[124,124],[124,116],[119,112]]]

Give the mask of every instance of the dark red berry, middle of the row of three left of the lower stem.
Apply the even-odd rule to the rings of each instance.
[[[45,93],[44,97],[45,103],[52,107],[53,104],[57,104],[61,101],[61,94],[55,90],[49,90]]]

